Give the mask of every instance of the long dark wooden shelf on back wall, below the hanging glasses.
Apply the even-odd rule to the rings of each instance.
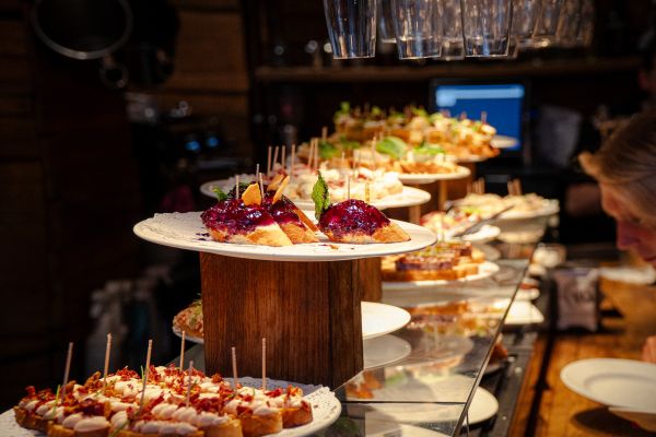
[[[637,57],[531,60],[518,62],[453,62],[425,67],[259,67],[256,81],[263,83],[350,83],[426,81],[433,78],[516,78],[581,75],[635,70]]]

